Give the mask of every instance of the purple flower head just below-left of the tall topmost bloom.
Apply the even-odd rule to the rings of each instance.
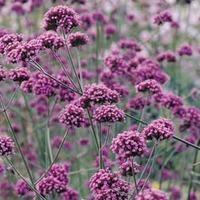
[[[42,47],[57,50],[64,46],[64,40],[54,31],[47,31],[38,37],[42,42]]]

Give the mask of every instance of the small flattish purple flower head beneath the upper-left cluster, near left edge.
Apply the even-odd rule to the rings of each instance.
[[[30,78],[30,72],[27,68],[18,67],[8,71],[8,78],[21,83],[22,81],[26,81]]]

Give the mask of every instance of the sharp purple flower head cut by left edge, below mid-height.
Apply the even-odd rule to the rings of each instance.
[[[11,137],[2,135],[0,136],[0,156],[8,156],[14,153],[14,142]]]

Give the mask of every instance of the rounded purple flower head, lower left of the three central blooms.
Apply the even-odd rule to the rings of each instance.
[[[84,110],[80,106],[71,103],[61,111],[59,121],[70,127],[81,127],[85,122]]]

